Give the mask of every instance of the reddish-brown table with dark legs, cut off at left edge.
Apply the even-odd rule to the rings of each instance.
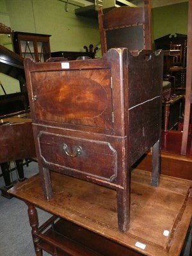
[[[23,116],[25,116],[23,114]],[[27,116],[26,116],[27,117]],[[19,181],[24,180],[24,170],[22,159],[31,159],[36,157],[35,142],[31,118],[4,118],[1,119],[1,156],[0,166],[3,173],[4,184],[1,195],[10,198],[6,193],[8,188],[12,187],[15,180],[10,178],[10,161],[15,161]]]

